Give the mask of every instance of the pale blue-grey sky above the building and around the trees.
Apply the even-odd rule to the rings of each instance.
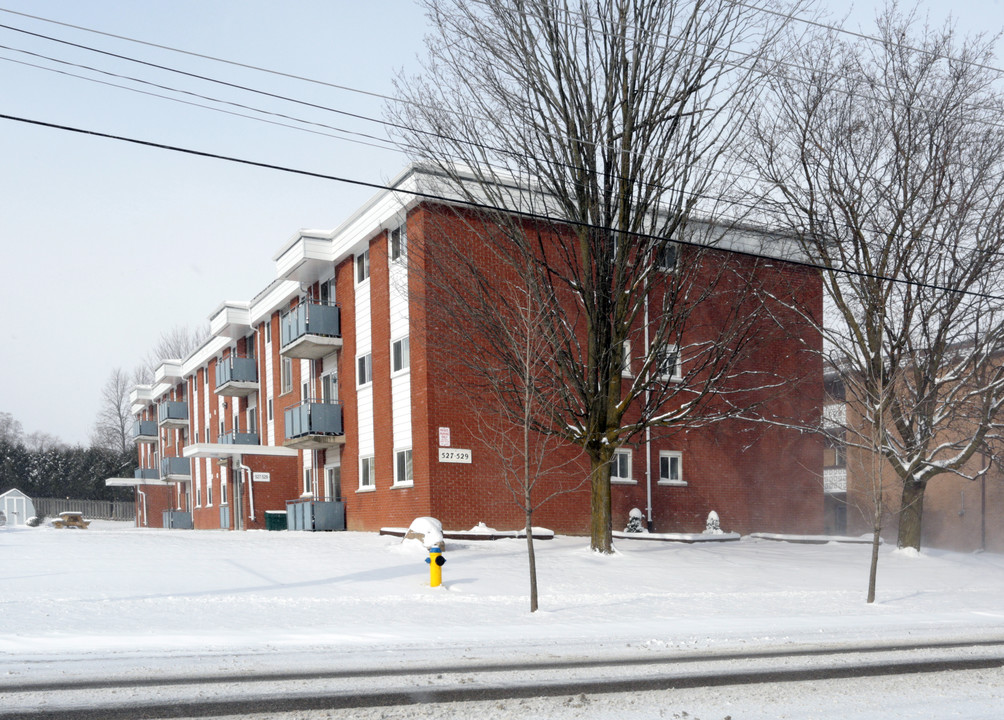
[[[825,6],[840,16],[850,3]],[[856,3],[846,26],[869,31],[874,7]],[[922,7],[935,23],[953,12],[965,31],[1004,27],[1002,0]],[[370,183],[407,162],[339,132],[386,137],[378,124],[64,43],[373,118],[379,98],[14,13],[391,94],[395,73],[416,71],[422,52],[426,19],[410,0],[0,0],[0,113]],[[83,66],[205,95],[213,99],[184,99],[215,109]],[[269,124],[218,100],[329,127]],[[271,258],[285,240],[337,226],[372,192],[0,119],[0,412],[26,433],[86,444],[112,369],[132,372],[162,332],[249,299],[275,277]]]

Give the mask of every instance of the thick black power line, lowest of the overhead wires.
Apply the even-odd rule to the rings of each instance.
[[[522,218],[522,219],[526,219],[526,220],[531,220],[531,221],[543,221],[543,222],[554,223],[554,224],[559,224],[559,225],[574,225],[574,226],[577,226],[577,227],[581,227],[581,228],[585,228],[585,229],[589,229],[589,230],[597,230],[597,231],[600,231],[600,232],[618,232],[618,231],[614,230],[613,228],[603,227],[603,226],[599,226],[599,225],[594,225],[594,224],[582,222],[582,221],[579,221],[579,220],[568,220],[568,219],[564,219],[564,218],[552,218],[552,217],[549,217],[547,215],[542,215],[540,213],[531,213],[531,212],[528,212],[528,211],[521,211],[521,210],[511,210],[511,209],[508,209],[508,208],[503,208],[503,207],[499,207],[497,205],[491,205],[491,204],[488,204],[488,203],[478,203],[478,202],[471,201],[471,200],[463,200],[463,199],[458,199],[458,198],[449,198],[449,197],[446,197],[444,195],[438,195],[436,193],[428,193],[428,192],[423,192],[423,191],[420,191],[420,190],[402,190],[401,188],[396,188],[396,187],[393,187],[393,186],[390,186],[390,185],[386,185],[386,184],[383,184],[383,183],[372,183],[372,182],[363,181],[363,180],[356,180],[356,179],[353,179],[353,178],[346,178],[346,177],[343,177],[343,176],[328,175],[326,173],[315,173],[315,172],[308,171],[308,170],[298,170],[298,169],[295,169],[295,168],[287,168],[285,166],[275,165],[275,164],[272,164],[272,163],[262,163],[262,162],[254,161],[254,160],[247,160],[247,159],[243,159],[243,158],[235,158],[235,157],[232,157],[232,156],[220,155],[218,153],[208,153],[208,152],[205,152],[205,151],[192,150],[190,148],[181,148],[181,147],[178,147],[178,146],[167,145],[167,144],[164,144],[164,143],[156,143],[156,142],[153,142],[153,141],[139,140],[139,139],[136,139],[136,138],[127,138],[124,136],[112,135],[112,134],[109,134],[109,133],[101,133],[101,132],[98,132],[98,131],[85,130],[85,129],[81,129],[81,128],[73,128],[71,126],[58,125],[58,124],[55,124],[55,123],[46,123],[44,121],[36,121],[36,119],[30,119],[30,118],[27,118],[27,117],[19,117],[17,115],[0,113],[0,119],[7,119],[7,121],[15,122],[15,123],[22,123],[22,124],[25,124],[25,125],[31,125],[31,126],[36,126],[36,127],[40,127],[40,128],[48,128],[50,130],[59,130],[59,131],[67,132],[67,133],[73,133],[73,134],[76,134],[76,135],[85,135],[85,136],[90,136],[90,137],[93,137],[93,138],[103,138],[105,140],[112,140],[112,141],[121,142],[121,143],[129,143],[131,145],[137,145],[137,146],[142,146],[142,147],[146,147],[146,148],[155,148],[155,149],[158,149],[158,150],[167,150],[167,151],[171,151],[171,152],[174,152],[174,153],[182,153],[184,155],[191,155],[191,156],[195,156],[195,157],[199,157],[199,158],[207,158],[207,159],[210,159],[210,160],[222,160],[222,161],[225,161],[225,162],[228,162],[228,163],[236,163],[236,164],[239,164],[239,165],[246,165],[246,166],[253,167],[253,168],[262,168],[264,170],[274,170],[274,171],[278,171],[278,172],[281,172],[281,173],[289,173],[289,174],[292,174],[292,175],[299,175],[299,176],[308,177],[308,178],[315,178],[315,179],[318,179],[318,180],[329,180],[329,181],[333,181],[333,182],[337,182],[337,183],[344,183],[346,185],[354,185],[354,186],[358,186],[358,187],[369,188],[371,190],[379,190],[379,191],[386,191],[386,192],[391,192],[391,193],[399,193],[399,194],[404,194],[404,195],[410,195],[410,196],[413,196],[413,197],[416,197],[416,198],[421,198],[423,200],[431,200],[431,201],[435,201],[435,202],[438,202],[438,203],[444,203],[444,204],[447,204],[447,205],[461,205],[463,207],[472,208],[474,210],[481,210],[481,211],[494,212],[494,213],[503,213],[503,214],[506,214],[506,215],[511,215],[511,216],[514,216],[514,217],[518,217],[518,218]],[[632,232],[630,234],[632,235],[632,237],[642,238],[642,239],[646,239],[646,240],[667,241],[667,238],[662,238],[662,237],[658,237],[658,236],[655,236],[655,235],[650,235],[650,234],[647,234],[647,233]],[[699,242],[691,241],[691,240],[683,240],[683,239],[676,239],[676,238],[674,238],[672,240],[669,240],[669,242],[673,242],[673,243],[676,243],[678,245],[684,245],[684,246],[689,246],[689,247],[698,247],[698,248],[702,248],[702,249],[709,249],[708,246],[703,245],[702,243],[699,243]],[[944,285],[936,285],[934,283],[918,282],[916,280],[905,280],[905,279],[902,279],[902,278],[888,277],[888,276],[883,276],[883,275],[876,275],[876,274],[873,274],[873,273],[862,272],[860,270],[852,270],[852,269],[847,269],[847,268],[827,268],[827,267],[825,267],[823,265],[819,265],[817,263],[809,262],[807,260],[798,260],[798,259],[793,259],[793,258],[791,258],[791,259],[789,259],[789,258],[783,258],[783,259],[782,258],[776,258],[776,257],[768,256],[768,255],[763,255],[762,253],[753,252],[751,250],[737,250],[737,249],[734,249],[734,248],[729,248],[727,250],[723,250],[722,248],[710,248],[710,249],[715,249],[715,250],[719,250],[719,251],[723,251],[723,252],[728,252],[728,253],[733,254],[733,255],[740,255],[740,256],[743,256],[743,257],[750,257],[750,258],[754,258],[754,259],[757,259],[757,260],[769,260],[769,261],[785,262],[785,263],[788,263],[790,265],[794,265],[796,267],[804,267],[804,268],[808,268],[808,269],[812,269],[812,270],[820,270],[820,271],[828,271],[828,272],[838,272],[838,273],[842,273],[844,275],[850,275],[850,276],[853,276],[853,277],[861,277],[861,278],[867,278],[867,279],[872,279],[872,280],[881,280],[883,282],[898,283],[898,284],[909,285],[911,287],[918,287],[918,288],[923,288],[923,289],[928,289],[928,290],[939,290],[939,291],[942,291],[942,292],[949,292],[949,293],[953,293],[953,294],[962,294],[962,295],[967,295],[967,296],[970,296],[970,297],[977,297],[977,298],[981,298],[981,299],[1004,301],[1004,297],[999,296],[999,295],[992,295],[990,293],[975,292],[973,290],[960,290],[960,289],[957,289],[957,288],[946,287]]]

